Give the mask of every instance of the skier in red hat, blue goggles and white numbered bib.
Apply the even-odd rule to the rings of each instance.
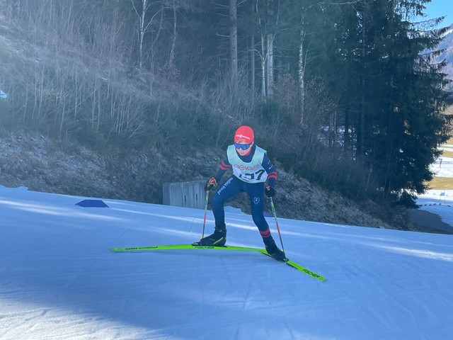
[[[264,194],[268,197],[275,196],[275,181],[277,171],[270,162],[264,149],[255,145],[252,128],[246,125],[239,127],[234,134],[234,145],[226,149],[226,156],[219,166],[214,177],[211,177],[205,186],[210,191],[217,186],[222,176],[229,168],[233,175],[219,188],[212,197],[212,212],[215,219],[214,234],[203,237],[200,242],[203,246],[224,246],[226,243],[226,225],[224,202],[245,191],[250,199],[253,222],[258,227],[265,249],[277,261],[286,261],[283,251],[278,249],[270,234],[264,210]],[[265,186],[265,181],[268,185]]]

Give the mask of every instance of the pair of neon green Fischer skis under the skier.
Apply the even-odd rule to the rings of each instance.
[[[155,250],[169,250],[169,249],[211,249],[211,250],[233,250],[233,251],[257,251],[258,253],[270,256],[265,249],[261,248],[252,248],[248,246],[201,246],[195,244],[168,244],[168,245],[160,245],[160,246],[131,246],[131,247],[123,247],[123,248],[109,248],[111,251],[115,252],[124,252],[124,251],[155,251]],[[272,256],[270,256],[272,257]],[[325,281],[326,278],[310,271],[309,269],[295,263],[287,259],[285,263],[297,269],[297,271],[302,271],[306,275],[311,276],[312,278],[316,278],[321,281]]]

